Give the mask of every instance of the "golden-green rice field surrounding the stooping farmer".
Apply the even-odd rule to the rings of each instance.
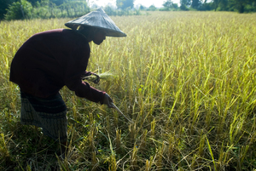
[[[38,31],[71,19],[0,23],[0,170],[255,170],[256,14],[154,12],[111,17],[127,37],[91,46],[88,71],[114,109],[61,95],[70,151],[22,126],[9,66]]]

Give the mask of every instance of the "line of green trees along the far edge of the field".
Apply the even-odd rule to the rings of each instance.
[[[236,11],[239,13],[256,12],[256,0],[180,0],[180,5],[166,0],[163,8],[154,5],[149,8],[140,5],[134,8],[135,0],[116,0],[116,6],[105,7],[110,15],[140,14],[140,10],[212,10]],[[32,18],[77,17],[90,12],[89,0],[1,0],[0,20],[20,20]]]

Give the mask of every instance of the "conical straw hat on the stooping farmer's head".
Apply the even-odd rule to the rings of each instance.
[[[73,30],[77,30],[79,26],[94,26],[103,29],[108,37],[126,37],[126,34],[114,24],[113,20],[101,8],[78,19],[68,21],[65,26]]]

